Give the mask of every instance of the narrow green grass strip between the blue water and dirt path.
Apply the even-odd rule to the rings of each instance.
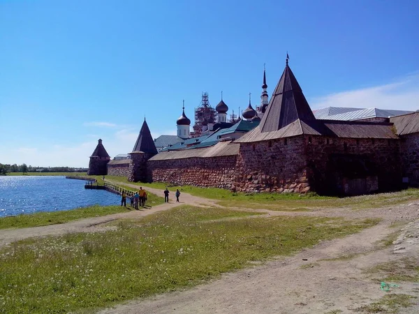
[[[17,216],[1,217],[0,229],[38,227],[41,225],[56,225],[67,223],[71,220],[78,220],[88,217],[106,216],[110,214],[123,213],[128,211],[121,206],[99,206],[82,207],[68,211],[45,211],[34,214],[22,214]]]

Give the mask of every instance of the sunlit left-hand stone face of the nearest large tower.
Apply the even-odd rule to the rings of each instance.
[[[240,144],[235,189],[242,192],[307,193],[302,136]]]

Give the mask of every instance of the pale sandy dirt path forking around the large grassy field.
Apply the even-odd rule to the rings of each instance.
[[[147,190],[163,195],[162,190]],[[187,193],[182,193],[181,203],[174,202],[171,196],[169,203],[144,211],[87,218],[62,225],[0,230],[0,247],[27,237],[101,231],[108,221],[140,218],[182,204],[217,206],[213,200]],[[404,257],[418,260],[419,202],[360,211],[348,208],[293,212],[241,210],[262,212],[267,216],[381,218],[382,222],[343,239],[323,241],[292,257],[279,257],[266,264],[226,274],[191,290],[133,300],[115,308],[103,309],[100,313],[358,313],[357,308],[371,304],[386,293],[380,289],[380,281],[373,280],[380,278],[368,271],[370,267]],[[394,227],[395,223],[398,227]],[[383,247],[381,241],[394,232],[400,234],[395,245]],[[392,290],[418,297],[413,299],[415,306],[403,308],[399,313],[419,313],[419,283],[400,283],[400,287]]]

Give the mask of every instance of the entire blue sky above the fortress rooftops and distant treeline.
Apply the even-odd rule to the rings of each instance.
[[[419,1],[1,1],[0,163],[87,167],[175,134],[202,91],[260,103],[286,52],[312,109],[419,109]]]

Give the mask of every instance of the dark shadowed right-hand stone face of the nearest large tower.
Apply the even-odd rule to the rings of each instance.
[[[401,187],[399,140],[305,135],[305,145],[307,177],[317,193],[357,195]]]

